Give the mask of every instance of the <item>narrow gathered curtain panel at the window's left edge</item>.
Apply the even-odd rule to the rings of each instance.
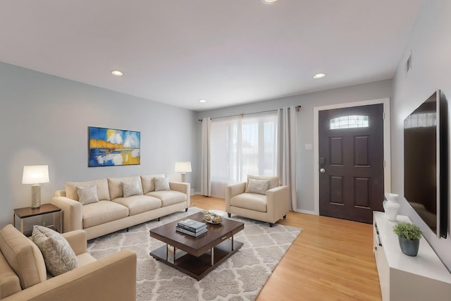
[[[202,162],[201,162],[201,183],[200,193],[211,197],[211,185],[210,185],[210,131],[211,131],[211,119],[202,119]]]

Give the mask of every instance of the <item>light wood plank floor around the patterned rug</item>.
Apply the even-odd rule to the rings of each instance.
[[[192,206],[225,210],[224,199],[193,195]],[[366,223],[289,212],[278,223],[302,228],[261,290],[266,300],[381,300]]]

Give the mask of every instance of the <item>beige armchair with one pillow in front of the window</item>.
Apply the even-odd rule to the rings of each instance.
[[[286,218],[289,196],[288,186],[281,186],[276,176],[247,176],[247,183],[226,186],[226,211],[229,217],[236,214],[266,221],[272,227]]]

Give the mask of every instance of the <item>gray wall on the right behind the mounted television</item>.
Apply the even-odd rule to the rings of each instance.
[[[393,192],[400,195],[404,195],[404,118],[438,89],[443,90],[445,93],[448,99],[448,110],[451,110],[451,104],[449,103],[451,101],[450,28],[451,1],[424,1],[395,74],[391,107],[392,188]],[[405,73],[405,61],[411,51],[412,70],[409,73]],[[451,112],[448,112],[448,114],[451,116]],[[450,146],[448,145],[448,147]],[[401,213],[409,216],[414,223],[421,226],[425,238],[432,245],[447,268],[451,270],[450,226],[448,226],[448,238],[438,239],[404,198],[401,204]]]

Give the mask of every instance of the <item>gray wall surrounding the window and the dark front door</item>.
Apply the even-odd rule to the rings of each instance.
[[[278,109],[283,106],[297,106],[302,108],[297,113],[297,209],[314,211],[314,150],[304,150],[304,145],[314,143],[314,107],[347,102],[360,102],[371,99],[389,98],[392,81],[382,80],[368,84],[354,85],[340,89],[301,94],[293,97],[256,102],[242,106],[230,106],[224,109],[202,111],[197,114],[198,119],[204,117],[221,117],[240,113],[253,113]],[[202,123],[197,125],[197,143],[200,147]],[[200,152],[198,152],[200,162]],[[197,166],[200,171],[200,164]],[[195,186],[200,187],[199,178]],[[200,189],[197,189],[199,191]],[[381,200],[382,202],[382,200]]]

